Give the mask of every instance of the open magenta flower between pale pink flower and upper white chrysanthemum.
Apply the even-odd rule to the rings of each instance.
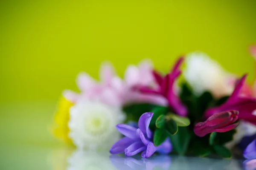
[[[180,116],[187,115],[186,106],[180,101],[180,98],[177,96],[175,92],[175,80],[180,75],[180,65],[182,64],[184,58],[180,57],[177,62],[175,63],[172,71],[166,76],[162,77],[156,71],[153,72],[154,78],[157,82],[157,89],[152,89],[149,87],[140,87],[140,91],[146,94],[160,94],[164,96],[169,106]]]

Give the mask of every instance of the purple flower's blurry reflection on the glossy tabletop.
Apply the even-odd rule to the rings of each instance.
[[[171,156],[155,156],[152,159],[135,159],[132,157],[120,157],[111,155],[109,157],[112,164],[118,170],[153,170],[154,168],[161,168],[161,170],[169,170],[172,159]]]

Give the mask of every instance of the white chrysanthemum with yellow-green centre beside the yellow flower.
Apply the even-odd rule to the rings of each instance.
[[[79,101],[70,108],[70,139],[79,149],[109,149],[119,138],[115,126],[124,118],[119,107],[99,101]]]

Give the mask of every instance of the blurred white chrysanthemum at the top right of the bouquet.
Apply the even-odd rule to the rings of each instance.
[[[185,62],[184,78],[195,94],[200,95],[204,91],[210,91],[215,97],[221,97],[232,93],[233,85],[229,83],[231,75],[207,54],[190,53]]]

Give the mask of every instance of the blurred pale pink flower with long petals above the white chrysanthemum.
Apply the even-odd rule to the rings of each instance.
[[[110,63],[105,62],[101,65],[99,77],[100,81],[97,82],[89,74],[80,73],[76,83],[81,93],[65,90],[64,97],[74,103],[81,99],[97,99],[108,105],[119,106],[129,102],[166,105],[166,100],[159,95],[141,94],[139,91],[134,91],[135,85],[154,84],[152,65],[148,60],[140,62],[138,67],[129,65],[125,71],[124,80],[116,75],[115,69]]]

